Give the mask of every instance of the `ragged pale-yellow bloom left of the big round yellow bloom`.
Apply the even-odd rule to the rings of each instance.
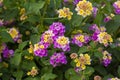
[[[66,7],[59,9],[57,12],[59,14],[59,18],[67,18],[68,20],[71,20],[71,16],[73,15],[73,13],[70,12],[70,9]]]

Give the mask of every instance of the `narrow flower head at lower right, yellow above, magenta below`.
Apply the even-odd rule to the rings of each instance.
[[[103,65],[107,67],[111,63],[112,57],[107,51],[103,52]]]

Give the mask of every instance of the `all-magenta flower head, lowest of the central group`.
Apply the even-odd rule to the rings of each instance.
[[[54,54],[50,57],[50,64],[51,64],[53,67],[60,66],[60,65],[62,65],[62,64],[67,64],[66,56],[64,55],[63,52],[54,53]]]

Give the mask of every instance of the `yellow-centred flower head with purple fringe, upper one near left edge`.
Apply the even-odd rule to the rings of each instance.
[[[10,28],[10,30],[8,31],[8,33],[10,34],[10,36],[14,39],[14,41],[16,42],[18,39],[21,38],[21,35],[19,33],[19,31],[16,28]]]

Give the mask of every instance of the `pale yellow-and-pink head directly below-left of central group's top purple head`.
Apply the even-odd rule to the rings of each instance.
[[[52,30],[48,30],[48,31],[45,31],[42,34],[41,41],[43,41],[44,43],[48,44],[48,46],[49,46],[50,44],[53,43],[54,37],[55,37],[55,34],[53,33],[53,31]]]

